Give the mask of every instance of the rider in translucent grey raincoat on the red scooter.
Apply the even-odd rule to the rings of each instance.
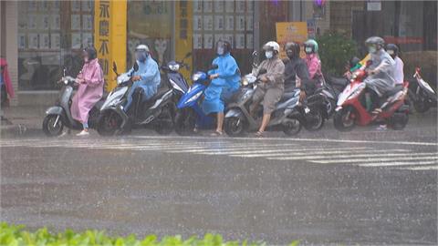
[[[395,87],[394,67],[395,61],[385,49],[385,41],[380,36],[371,36],[365,41],[365,45],[370,52],[370,61],[372,62],[369,69],[369,77],[364,82],[369,88],[371,97],[371,108],[373,114],[379,114],[380,97],[385,92]]]

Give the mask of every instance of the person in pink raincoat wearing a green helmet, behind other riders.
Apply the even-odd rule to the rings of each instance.
[[[321,60],[318,56],[318,43],[313,39],[308,39],[304,43],[304,51],[306,52],[306,64],[308,65],[309,78],[313,79],[316,87],[320,87],[324,77],[321,71]]]

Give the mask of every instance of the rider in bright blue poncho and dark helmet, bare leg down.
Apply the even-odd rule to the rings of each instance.
[[[212,82],[204,93],[203,112],[205,114],[217,113],[214,136],[223,134],[224,101],[232,97],[240,87],[240,70],[230,52],[231,44],[229,42],[222,40],[217,42],[217,57],[214,58],[213,64],[218,67],[209,71]]]

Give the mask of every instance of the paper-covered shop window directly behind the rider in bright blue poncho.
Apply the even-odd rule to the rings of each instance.
[[[243,72],[250,70],[254,49],[254,1],[193,1],[193,65],[206,69],[215,55],[214,45],[227,40]]]

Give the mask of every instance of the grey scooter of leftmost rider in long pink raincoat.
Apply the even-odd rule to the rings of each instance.
[[[73,88],[77,86],[76,78],[66,76],[66,68],[64,68],[64,75],[57,83],[63,85],[57,103],[55,106],[47,108],[46,118],[43,120],[43,131],[47,137],[59,136],[64,127],[77,130],[82,129],[82,124],[72,118],[70,112]],[[99,109],[102,107],[104,101],[105,98],[102,97],[89,111],[89,128],[96,128],[99,118]]]

